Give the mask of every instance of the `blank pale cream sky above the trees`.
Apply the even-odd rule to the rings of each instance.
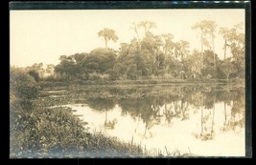
[[[215,48],[222,58],[223,39],[218,31],[244,25],[244,10],[11,10],[10,62],[16,67],[40,62],[56,65],[60,55],[105,47],[98,36],[104,28],[116,32],[119,40],[108,42],[108,47],[118,50],[120,43],[136,36],[131,23],[140,21],[155,22],[154,34],[172,33],[175,41],[189,41],[191,51],[200,50],[199,35],[191,27],[201,20],[217,23]]]

